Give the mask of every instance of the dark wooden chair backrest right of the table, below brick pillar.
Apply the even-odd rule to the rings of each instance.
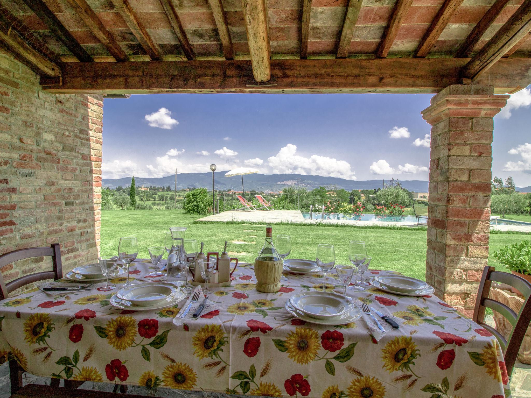
[[[489,298],[492,282],[501,282],[516,288],[524,296],[524,304],[516,314],[511,308],[500,301]],[[505,358],[505,366],[510,376],[515,366],[520,345],[531,321],[531,283],[518,275],[507,272],[495,271],[494,267],[486,266],[483,270],[479,290],[477,293],[476,307],[472,320],[491,332],[500,343]],[[500,332],[490,325],[485,324],[485,308],[493,309],[505,317],[512,325],[512,330],[508,339],[504,338]]]

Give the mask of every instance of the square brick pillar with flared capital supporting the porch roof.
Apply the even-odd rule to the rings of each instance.
[[[489,257],[492,118],[508,98],[456,84],[422,111],[432,125],[426,282],[469,316]]]

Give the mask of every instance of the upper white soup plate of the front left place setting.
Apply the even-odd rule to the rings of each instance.
[[[168,297],[175,296],[180,289],[168,282],[145,282],[120,289],[116,297],[130,301],[136,306],[152,306]]]

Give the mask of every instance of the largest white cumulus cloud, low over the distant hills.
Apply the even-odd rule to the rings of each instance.
[[[268,165],[273,174],[303,174],[325,177],[340,177],[356,179],[350,164],[344,160],[337,160],[319,155],[310,158],[297,155],[297,146],[287,144],[275,156],[268,158]]]

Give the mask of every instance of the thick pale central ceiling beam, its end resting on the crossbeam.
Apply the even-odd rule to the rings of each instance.
[[[265,0],[242,0],[242,8],[254,80],[268,82],[271,79],[271,44]]]

